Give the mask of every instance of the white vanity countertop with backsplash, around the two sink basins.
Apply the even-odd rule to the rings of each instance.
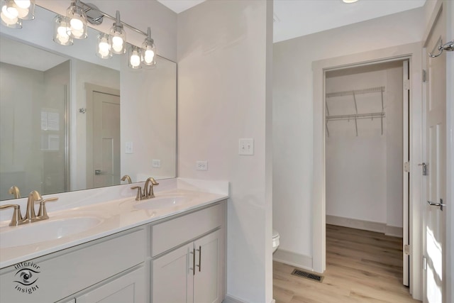
[[[182,182],[182,180],[178,180],[178,182],[175,184],[177,184],[176,188],[169,188],[172,186],[168,186],[167,188],[165,188],[165,190],[161,191],[156,190],[157,188],[155,187],[155,198],[152,199],[135,201],[135,193],[130,192],[131,197],[114,199],[109,202],[85,202],[83,204],[80,204],[82,206],[77,206],[77,204],[75,203],[70,203],[71,206],[75,207],[69,209],[60,209],[57,211],[48,210],[50,219],[38,221],[33,224],[8,226],[8,221],[2,221],[0,223],[0,241],[2,234],[16,230],[17,228],[28,228],[30,232],[33,233],[33,226],[36,226],[36,230],[38,224],[47,224],[51,221],[63,221],[65,219],[72,219],[77,217],[100,219],[98,225],[86,231],[74,233],[70,236],[65,236],[50,241],[43,241],[40,243],[13,246],[9,248],[0,248],[0,268],[6,268],[10,265],[21,263],[26,260],[31,260],[33,258],[38,258],[48,253],[55,253],[58,250],[77,246],[82,243],[87,243],[88,241],[93,241],[104,236],[109,236],[120,231],[125,231],[129,228],[148,224],[150,222],[167,218],[175,214],[181,214],[184,211],[197,209],[199,207],[206,206],[214,202],[219,202],[228,198],[228,182],[224,182],[224,184],[216,182],[214,184],[215,187],[217,187],[216,190],[212,190],[213,188],[200,188],[199,185],[201,183],[198,180],[195,180],[195,182],[187,182],[187,180],[184,180]],[[219,186],[220,184],[221,186]],[[141,184],[139,183],[133,185]],[[221,187],[223,188],[223,190],[218,190]],[[184,197],[184,203],[161,209],[138,209],[139,204],[153,203],[153,201],[159,202],[160,199],[172,197]]]

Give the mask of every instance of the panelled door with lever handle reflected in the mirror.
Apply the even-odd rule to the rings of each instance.
[[[93,92],[93,187],[120,184],[120,97]]]

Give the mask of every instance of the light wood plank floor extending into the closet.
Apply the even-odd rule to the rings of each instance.
[[[419,302],[402,285],[402,238],[327,225],[323,282],[290,275],[293,270],[273,262],[276,303]]]

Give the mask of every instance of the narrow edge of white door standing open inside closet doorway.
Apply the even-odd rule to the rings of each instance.
[[[409,232],[409,208],[410,208],[410,172],[409,172],[409,161],[410,161],[410,145],[409,145],[409,106],[410,106],[410,71],[409,71],[409,60],[405,60],[403,62],[403,73],[404,79],[402,83],[404,83],[403,87],[403,127],[402,130],[404,144],[403,144],[403,160],[404,160],[404,180],[402,182],[403,185],[403,192],[402,197],[403,199],[403,234],[402,234],[402,245],[403,245],[403,266],[402,266],[402,275],[403,275],[403,284],[406,286],[410,285],[410,256],[409,256],[409,245],[410,245],[410,232]]]

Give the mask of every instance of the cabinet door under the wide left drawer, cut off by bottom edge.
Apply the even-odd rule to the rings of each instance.
[[[145,269],[138,268],[76,297],[77,303],[145,302]]]

